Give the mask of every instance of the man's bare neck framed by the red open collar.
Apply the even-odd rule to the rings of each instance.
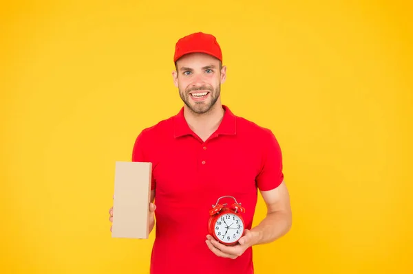
[[[184,117],[189,128],[204,141],[218,129],[224,113],[222,105],[218,104],[218,102],[208,113],[203,114],[193,113],[187,106],[184,107]]]

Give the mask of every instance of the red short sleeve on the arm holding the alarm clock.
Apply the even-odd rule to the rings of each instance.
[[[262,163],[257,175],[257,187],[262,190],[273,190],[284,181],[282,170],[282,151],[271,130],[267,131],[262,142]]]

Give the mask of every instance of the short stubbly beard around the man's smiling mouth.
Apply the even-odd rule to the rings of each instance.
[[[190,104],[191,95],[189,94],[189,92],[197,91],[197,90],[209,91],[209,97],[211,99],[208,99],[208,100],[210,101],[209,102],[194,102],[195,104],[191,105]],[[184,104],[186,104],[193,113],[197,113],[197,114],[204,114],[204,113],[208,113],[209,111],[211,111],[211,109],[217,102],[218,98],[220,97],[220,93],[221,93],[220,84],[218,84],[218,86],[215,87],[215,89],[213,89],[212,87],[206,87],[206,86],[188,89],[187,91],[182,91],[182,89],[179,89],[179,95],[182,101],[184,102]]]

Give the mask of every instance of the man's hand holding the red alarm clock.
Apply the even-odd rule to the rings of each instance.
[[[242,255],[246,249],[252,247],[259,241],[260,236],[248,229],[245,230],[244,236],[238,240],[238,243],[233,247],[227,247],[215,240],[211,235],[207,236],[207,245],[209,249],[218,257],[236,259]]]

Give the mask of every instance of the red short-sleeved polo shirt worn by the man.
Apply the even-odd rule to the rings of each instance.
[[[151,274],[253,273],[251,248],[235,260],[209,250],[209,209],[221,196],[234,196],[251,229],[257,188],[271,190],[283,181],[282,153],[271,130],[223,108],[222,122],[207,141],[189,128],[183,108],[136,138],[132,161],[152,163],[156,190]]]

